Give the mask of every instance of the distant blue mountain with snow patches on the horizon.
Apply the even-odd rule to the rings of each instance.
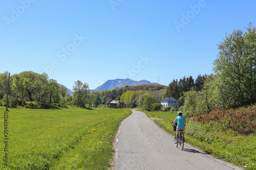
[[[116,87],[124,87],[126,85],[135,86],[141,84],[158,84],[158,83],[151,83],[147,80],[136,81],[132,79],[115,79],[115,80],[108,80],[99,87],[95,88],[93,91],[101,91],[101,90],[112,90]]]

